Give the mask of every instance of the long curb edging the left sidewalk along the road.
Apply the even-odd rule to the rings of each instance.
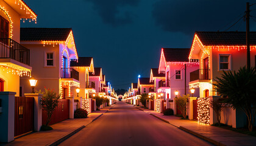
[[[111,108],[110,108],[111,109]],[[109,110],[109,109],[108,109]],[[107,110],[107,111],[108,111]],[[107,113],[107,111],[105,113]],[[94,120],[97,120],[99,117],[101,117],[104,113],[100,114],[98,117],[95,117],[93,120],[91,120],[90,123],[94,122]],[[87,125],[89,125],[90,123],[88,123]],[[55,145],[59,145],[60,143],[62,143],[63,141],[65,141],[66,139],[68,139],[69,137],[73,136],[74,134],[76,134],[78,131],[82,130],[83,128],[87,127],[87,125],[82,125],[81,127],[77,128],[76,130],[71,131],[71,133],[66,134],[65,136],[60,137],[57,141],[52,142],[51,144],[49,144],[49,146],[55,146]]]

